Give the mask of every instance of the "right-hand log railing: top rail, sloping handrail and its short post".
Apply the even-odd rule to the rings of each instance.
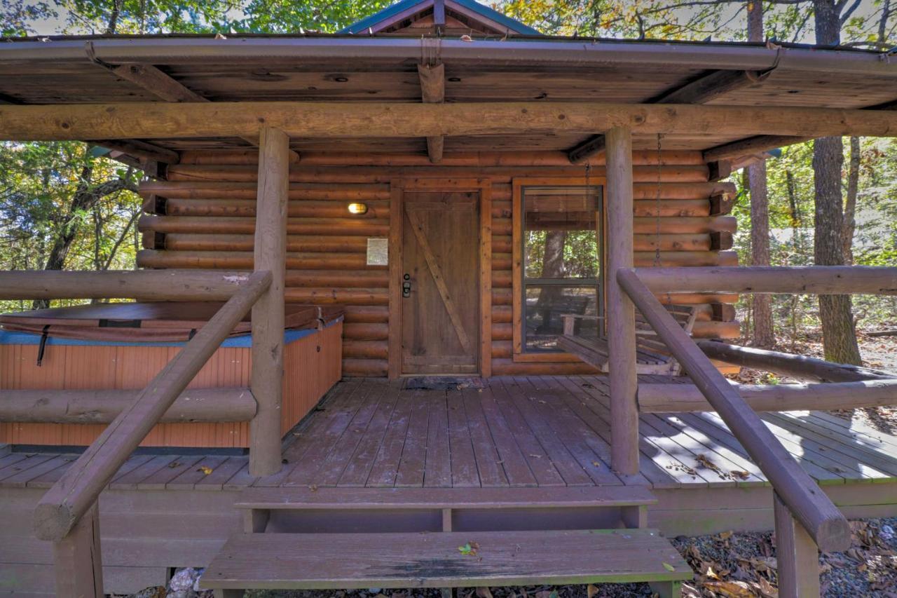
[[[848,549],[849,523],[772,435],[741,391],[727,382],[669,315],[655,293],[893,295],[897,294],[897,268],[620,268],[615,278],[683,365],[703,398],[770,480],[779,553],[779,595],[818,595],[818,550]],[[886,392],[893,393],[891,383],[883,384]]]

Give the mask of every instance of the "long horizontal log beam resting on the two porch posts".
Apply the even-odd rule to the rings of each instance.
[[[135,119],[134,115],[140,118]],[[259,123],[303,137],[640,134],[895,136],[897,111],[597,102],[245,101],[0,106],[0,138],[16,141],[256,136]]]

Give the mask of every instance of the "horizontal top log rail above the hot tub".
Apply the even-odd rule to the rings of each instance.
[[[248,277],[227,270],[0,271],[0,299],[226,301]]]

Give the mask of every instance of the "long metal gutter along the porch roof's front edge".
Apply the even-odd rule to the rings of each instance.
[[[416,63],[426,40],[376,37],[129,38],[92,40],[95,56],[110,64],[351,60]],[[85,40],[0,43],[0,62],[81,62]],[[825,48],[765,48],[736,44],[582,40],[440,40],[446,62],[541,66],[667,66],[877,75],[897,78],[897,62],[883,54]],[[897,91],[897,90],[895,90]]]

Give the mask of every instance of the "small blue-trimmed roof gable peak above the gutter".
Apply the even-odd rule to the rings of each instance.
[[[340,33],[541,35],[475,0],[400,0]]]

